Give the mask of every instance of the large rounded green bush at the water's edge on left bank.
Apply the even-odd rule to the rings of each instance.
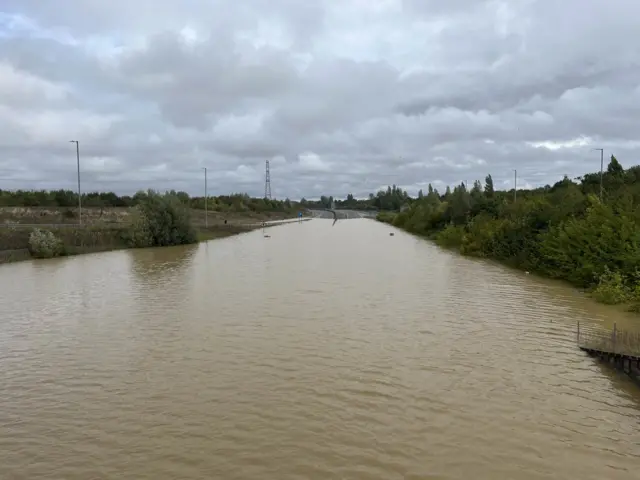
[[[164,247],[197,242],[189,209],[176,195],[160,195],[152,190],[139,194],[126,235],[132,247]]]

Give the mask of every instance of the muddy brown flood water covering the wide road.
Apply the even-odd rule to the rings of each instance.
[[[0,478],[640,478],[631,317],[331,224],[0,267]]]

